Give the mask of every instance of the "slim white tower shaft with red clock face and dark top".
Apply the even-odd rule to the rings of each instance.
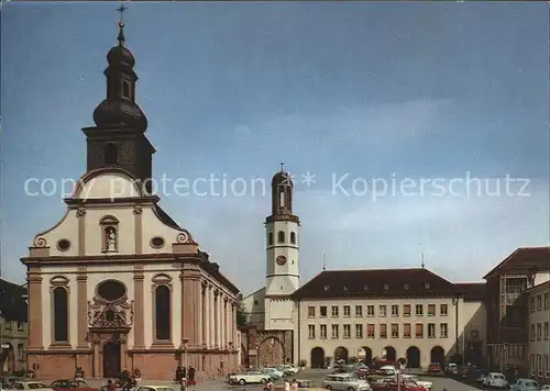
[[[272,180],[272,214],[265,219],[266,288],[265,328],[293,329],[289,295],[299,288],[299,225],[293,213],[294,182],[284,170]]]

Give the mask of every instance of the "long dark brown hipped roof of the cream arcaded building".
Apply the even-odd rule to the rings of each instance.
[[[324,270],[292,294],[293,299],[365,295],[457,294],[449,280],[424,268]]]

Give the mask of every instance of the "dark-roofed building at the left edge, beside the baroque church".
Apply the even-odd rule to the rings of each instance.
[[[0,279],[0,372],[26,372],[26,288]]]

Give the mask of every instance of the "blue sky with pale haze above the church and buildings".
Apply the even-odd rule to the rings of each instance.
[[[118,3],[16,3],[2,11],[2,273],[63,215],[84,126],[105,97]],[[127,45],[157,148],[156,177],[296,174],[302,282],[321,269],[420,264],[480,280],[519,246],[549,244],[548,5],[544,3],[130,3]],[[317,175],[310,187],[300,175]],[[417,182],[529,179],[507,194],[333,190],[332,175]],[[371,183],[371,182],[369,182]],[[527,182],[526,182],[527,183]],[[520,190],[521,193],[520,193]],[[528,197],[522,197],[527,194]],[[161,194],[163,196],[163,194]],[[261,196],[261,194],[260,194]],[[265,272],[267,194],[164,194],[244,292]],[[421,246],[420,246],[421,243]],[[243,273],[246,270],[246,273]],[[252,277],[252,278],[250,278]]]

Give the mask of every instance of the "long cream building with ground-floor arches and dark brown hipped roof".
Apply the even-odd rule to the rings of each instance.
[[[462,361],[464,332],[477,332],[475,357],[484,355],[484,305],[480,295],[418,269],[326,270],[298,289],[295,311],[295,357],[312,368],[356,357],[406,361],[427,367]]]

